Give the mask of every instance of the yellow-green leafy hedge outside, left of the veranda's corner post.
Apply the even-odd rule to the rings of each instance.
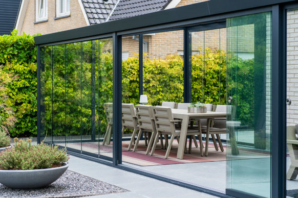
[[[17,81],[7,85],[10,105],[15,111],[17,122],[12,136],[34,136],[37,134],[36,102],[36,46],[33,36],[0,36],[0,65],[3,70],[17,75]]]

